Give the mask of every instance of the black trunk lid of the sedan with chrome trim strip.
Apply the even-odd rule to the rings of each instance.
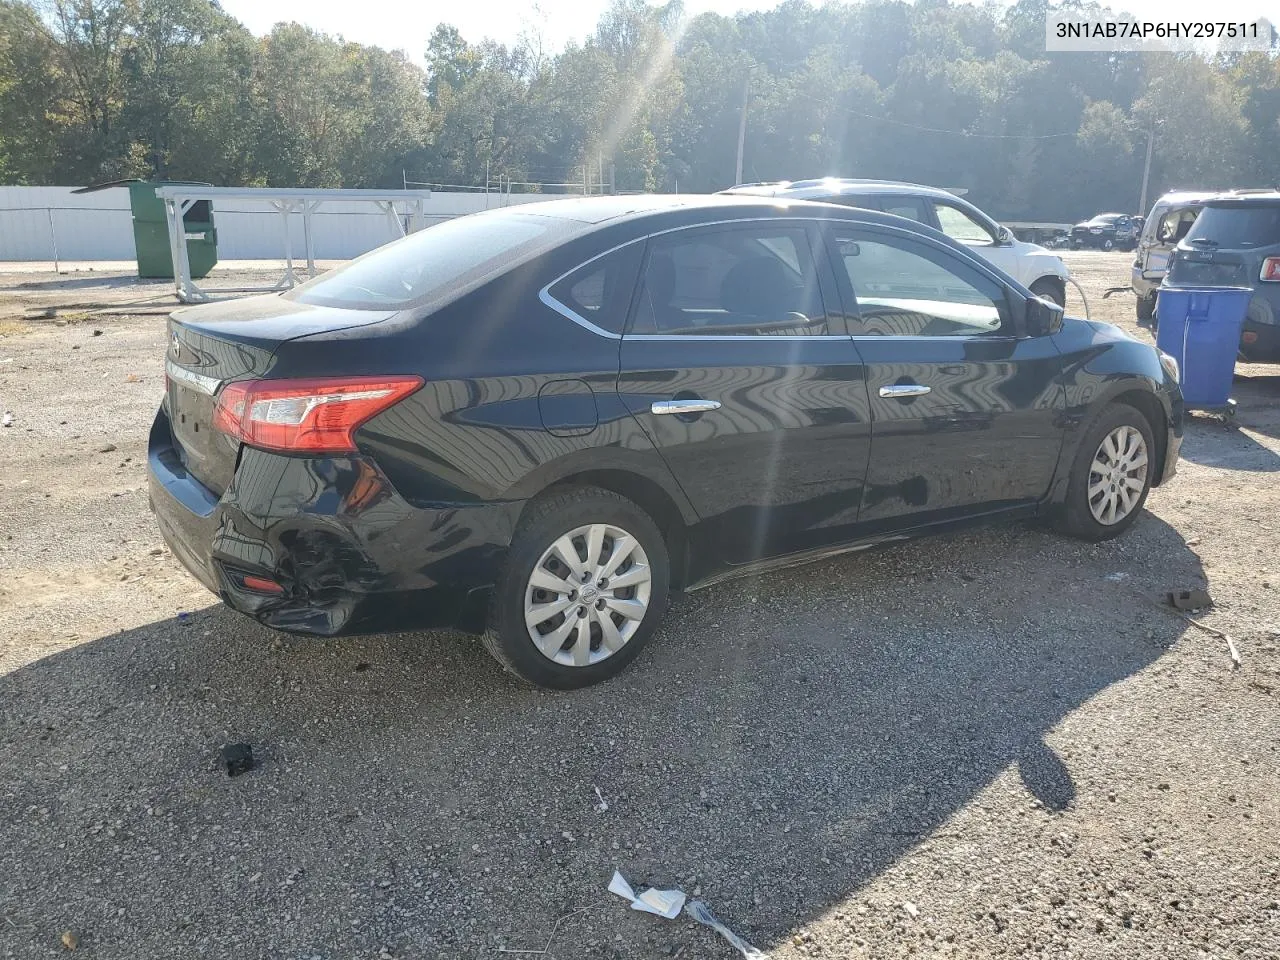
[[[214,429],[219,390],[270,376],[282,343],[369,326],[394,312],[346,310],[275,296],[174,311],[165,356],[165,403],[174,448],[187,471],[221,495],[236,474],[239,442]]]

